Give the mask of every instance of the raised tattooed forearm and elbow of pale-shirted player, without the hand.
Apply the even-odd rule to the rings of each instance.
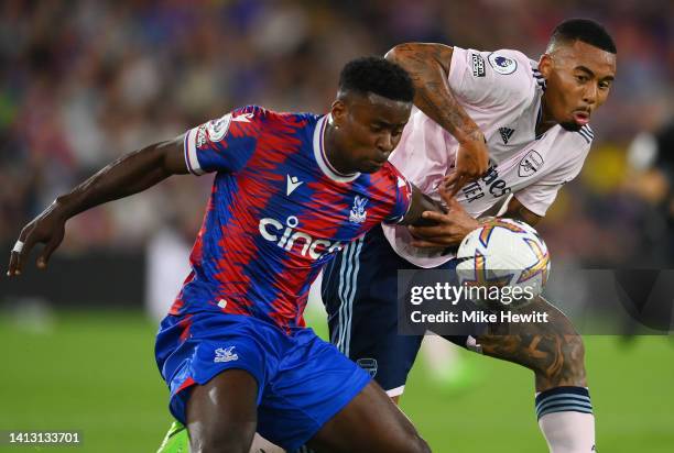
[[[414,82],[414,104],[459,142],[481,140],[477,124],[457,102],[447,76],[453,48],[443,44],[400,44],[387,59],[401,65]]]

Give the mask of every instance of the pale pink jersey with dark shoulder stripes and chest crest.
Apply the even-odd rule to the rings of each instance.
[[[478,52],[454,47],[449,86],[487,140],[490,169],[457,194],[469,214],[494,214],[513,195],[544,216],[565,184],[575,178],[590,148],[589,125],[569,132],[561,125],[535,134],[545,81],[537,63],[518,51]],[[437,186],[454,172],[458,142],[414,109],[391,163],[423,192],[439,199]],[[395,252],[421,267],[435,267],[454,255],[410,245],[404,226],[383,226]]]

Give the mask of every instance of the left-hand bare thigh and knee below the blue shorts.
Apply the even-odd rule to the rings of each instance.
[[[248,451],[257,427],[258,382],[247,371],[227,369],[195,385],[187,400],[192,451]]]

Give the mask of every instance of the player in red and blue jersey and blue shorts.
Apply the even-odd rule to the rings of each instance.
[[[172,175],[216,173],[155,349],[192,451],[248,452],[256,430],[287,450],[428,451],[370,375],[302,318],[309,285],[344,244],[380,222],[423,224],[436,209],[388,162],[413,96],[398,65],[361,58],[345,66],[327,115],[251,106],[128,154],[21,231],[8,275],[37,243],[44,268],[81,211]]]

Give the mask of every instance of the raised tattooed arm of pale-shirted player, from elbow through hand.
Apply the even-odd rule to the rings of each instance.
[[[480,177],[488,167],[489,152],[485,135],[457,102],[448,82],[453,48],[443,44],[407,43],[385,55],[412,77],[414,104],[458,142],[456,168],[446,179],[450,195]]]

